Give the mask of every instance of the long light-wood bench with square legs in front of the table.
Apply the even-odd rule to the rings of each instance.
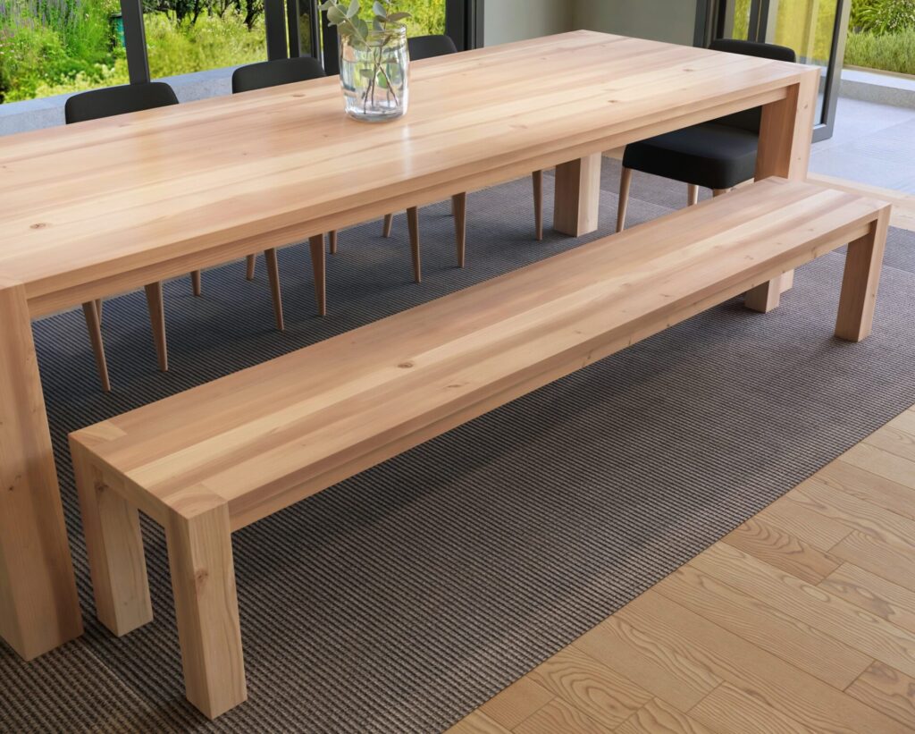
[[[759,287],[845,243],[835,333],[861,340],[888,214],[769,178],[73,433],[99,619],[152,618],[142,511],[167,536],[188,699],[220,715],[246,696],[233,531],[728,298],[771,305]]]

